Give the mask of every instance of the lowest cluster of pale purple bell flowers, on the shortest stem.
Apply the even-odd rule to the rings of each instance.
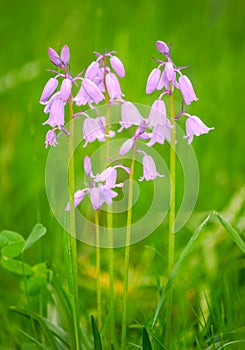
[[[113,191],[113,188],[122,187],[123,184],[116,183],[117,171],[116,168],[121,167],[128,173],[130,170],[121,164],[114,167],[110,166],[105,169],[101,174],[93,175],[91,170],[91,161],[88,156],[84,159],[84,170],[86,175],[90,178],[90,187],[78,190],[74,194],[74,207],[77,207],[85,195],[89,195],[92,207],[94,210],[98,210],[103,203],[108,205],[112,204],[112,199],[115,198],[118,193]],[[66,205],[66,211],[70,210],[70,202]]]

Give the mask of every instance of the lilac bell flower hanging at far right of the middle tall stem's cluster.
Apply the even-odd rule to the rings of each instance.
[[[131,102],[125,102],[121,107],[121,121],[120,121],[120,129],[118,132],[121,132],[123,129],[128,129],[132,125],[139,125],[143,120],[138,109]]]

